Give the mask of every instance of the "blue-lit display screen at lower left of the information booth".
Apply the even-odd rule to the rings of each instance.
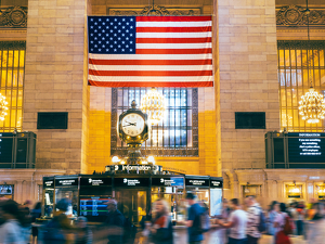
[[[108,197],[80,197],[80,216],[105,216],[107,214]]]

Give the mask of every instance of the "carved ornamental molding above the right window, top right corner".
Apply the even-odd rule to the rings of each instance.
[[[286,5],[276,10],[276,25],[278,26],[307,26],[308,15],[306,8],[299,5]],[[325,9],[310,10],[309,24],[311,26],[325,25]]]

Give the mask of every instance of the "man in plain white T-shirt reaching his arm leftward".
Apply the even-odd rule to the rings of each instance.
[[[226,222],[218,220],[221,227],[230,229],[229,244],[246,244],[247,214],[242,210],[239,201],[233,198],[230,201],[230,207],[233,209]]]

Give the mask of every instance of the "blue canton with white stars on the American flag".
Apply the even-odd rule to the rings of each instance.
[[[89,16],[90,53],[135,54],[135,17]]]

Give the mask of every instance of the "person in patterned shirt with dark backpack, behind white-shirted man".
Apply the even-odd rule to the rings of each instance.
[[[263,209],[256,201],[253,195],[246,197],[247,203],[247,244],[257,244],[262,236],[262,232],[266,230],[266,220]]]

